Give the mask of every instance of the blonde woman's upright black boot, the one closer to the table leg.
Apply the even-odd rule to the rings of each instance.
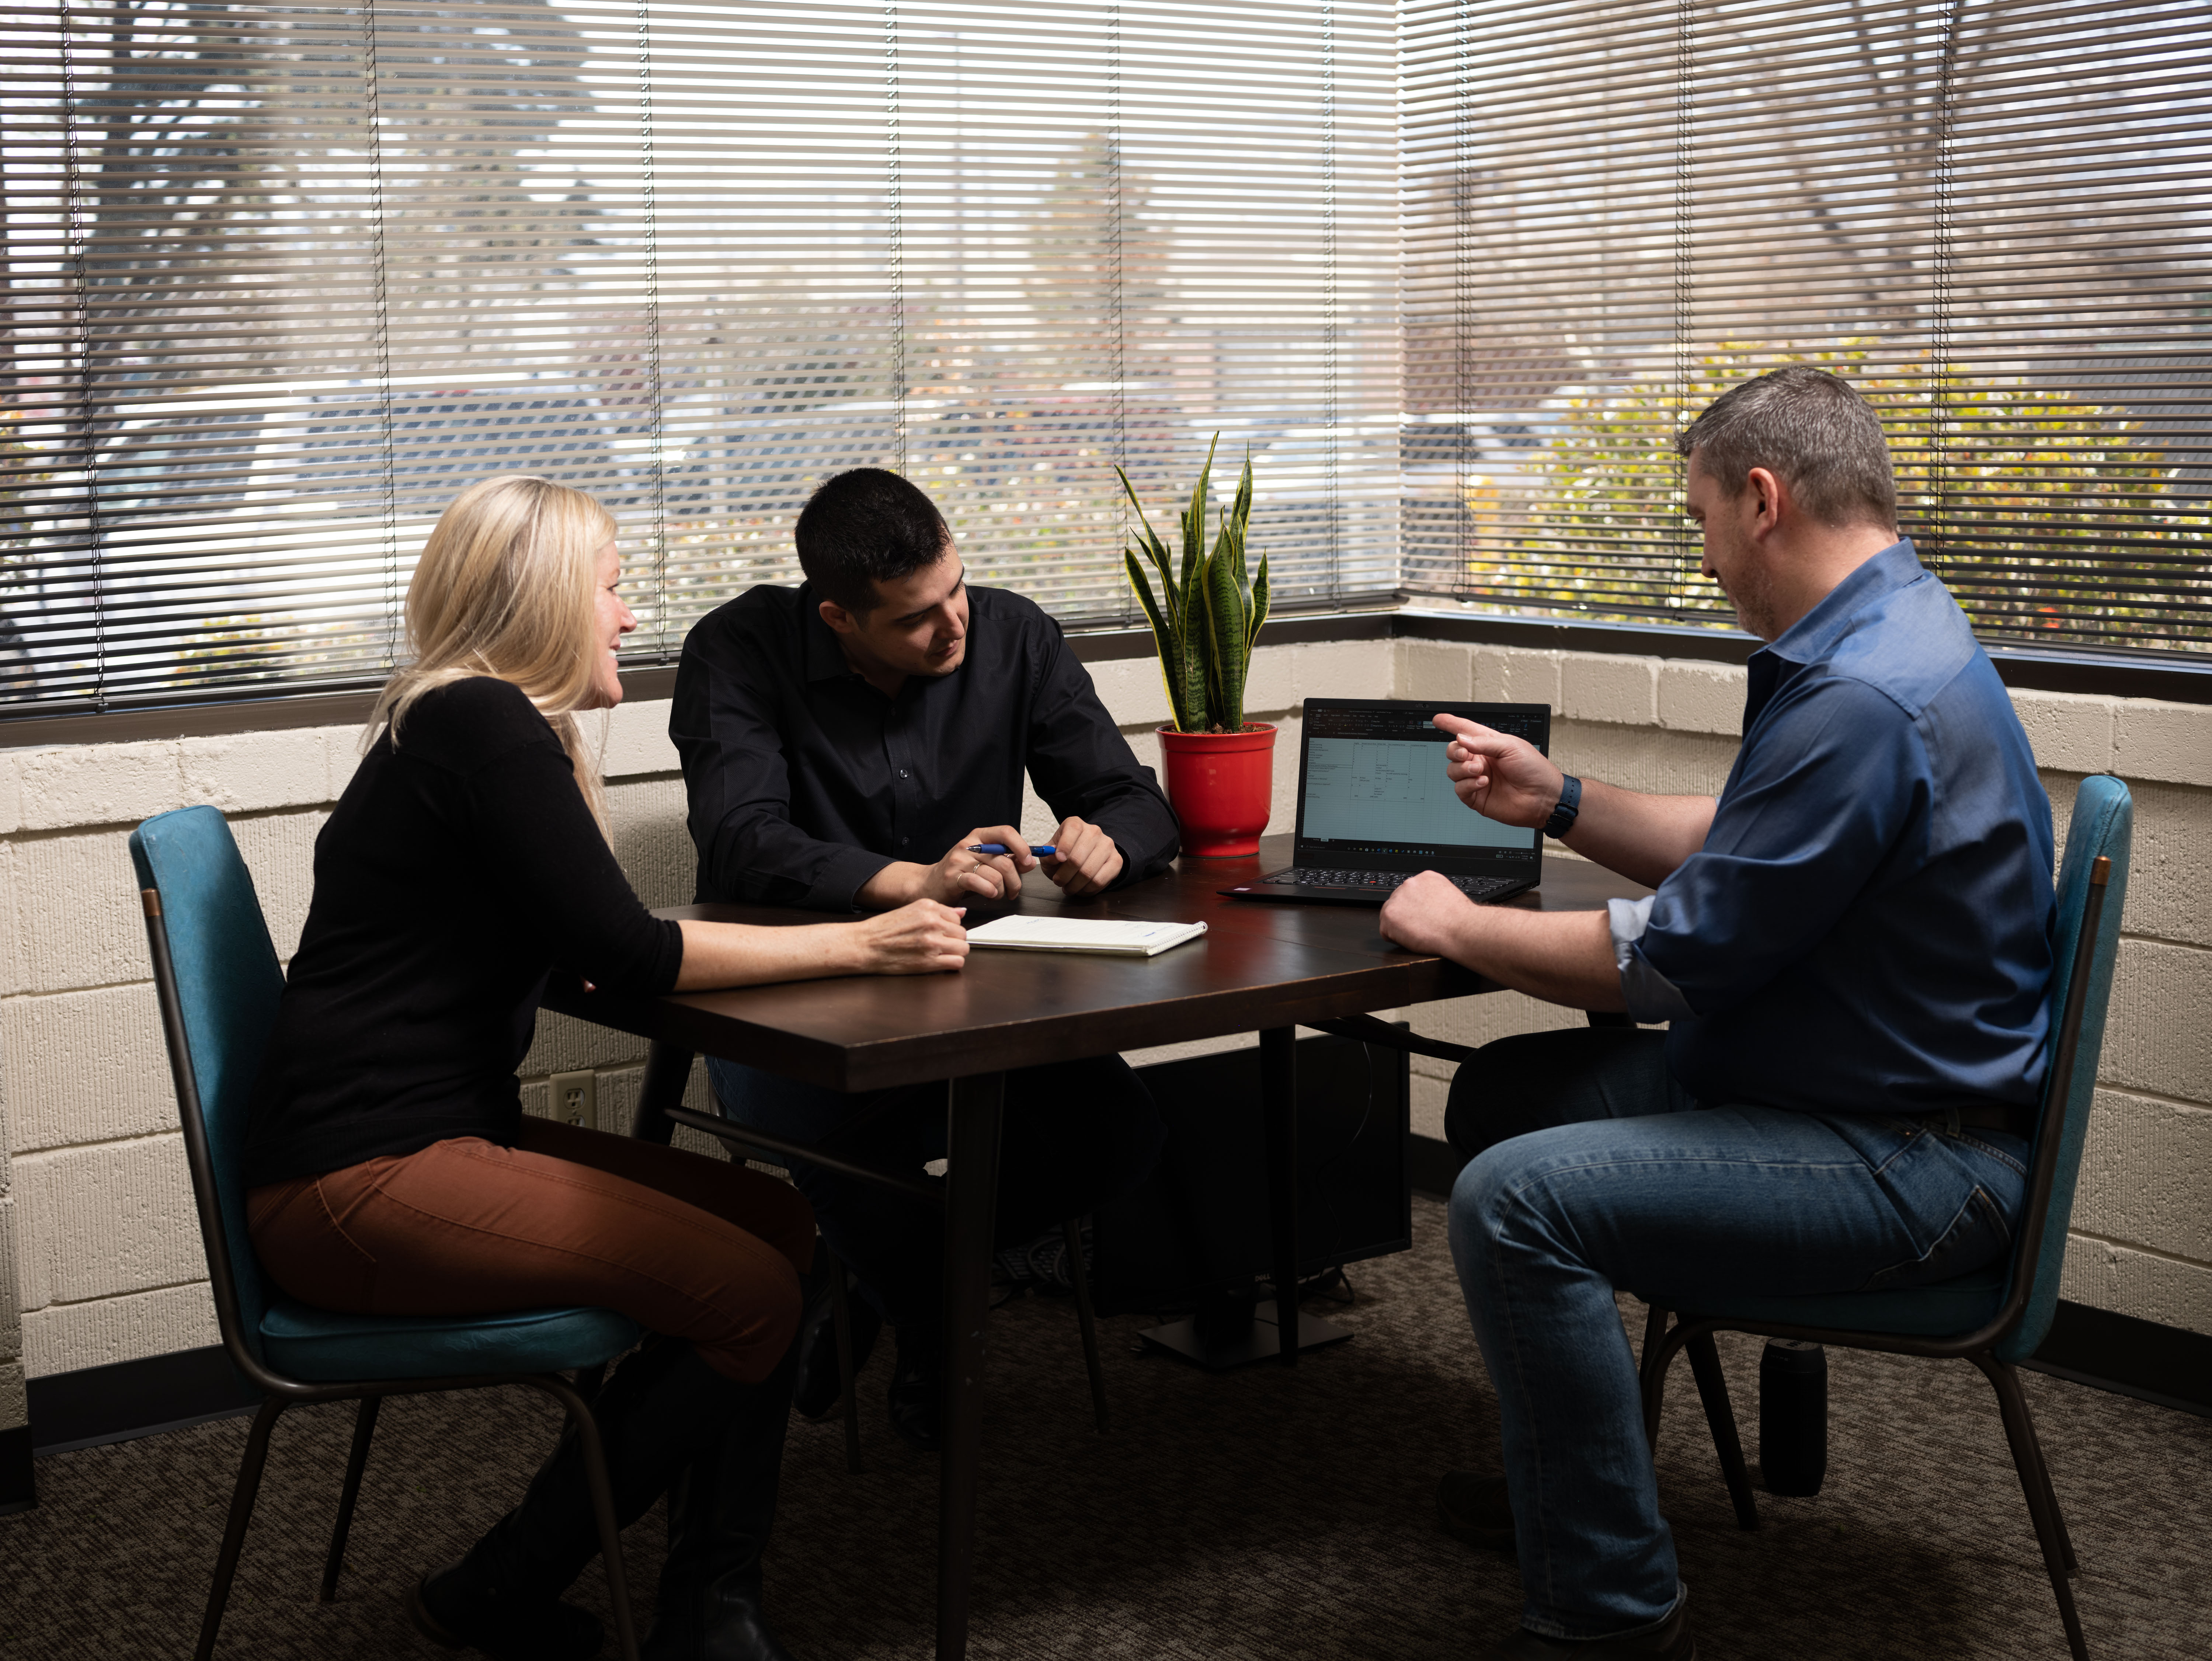
[[[761,1550],[776,1519],[796,1349],[737,1385],[721,1442],[668,1491],[668,1564],[644,1661],[792,1661],[761,1610]]]

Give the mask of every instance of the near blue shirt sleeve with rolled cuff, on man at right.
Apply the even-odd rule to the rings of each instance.
[[[1927,752],[1885,692],[1825,677],[1770,719],[1785,725],[1739,756],[1705,845],[1641,927],[1613,920],[1637,1020],[1719,1015],[1770,984],[1829,938],[1902,829],[1927,823]]]

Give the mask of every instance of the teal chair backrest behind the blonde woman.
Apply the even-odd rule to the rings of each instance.
[[[215,1316],[232,1358],[265,1367],[268,1283],[246,1236],[246,1108],[276,1026],[283,969],[254,878],[212,807],[157,814],[131,832],[177,1115],[184,1121]],[[246,1351],[246,1358],[239,1351]],[[259,1380],[257,1380],[259,1382]]]

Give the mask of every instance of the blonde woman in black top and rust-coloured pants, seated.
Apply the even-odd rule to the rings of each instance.
[[[292,1296],[361,1314],[619,1309],[655,1334],[599,1400],[624,1522],[670,1491],[646,1654],[783,1661],[761,1617],[814,1219],[741,1163],[524,1119],[515,1064],[549,971],[633,993],[960,969],[960,913],[664,922],[606,840],[577,710],[622,699],[615,524],[493,478],[438,520],[385,686],[314,845],[314,902],[246,1141],[248,1221]],[[409,1592],[431,1639],[597,1654],[560,1601],[597,1548],[564,1442],[522,1504]]]

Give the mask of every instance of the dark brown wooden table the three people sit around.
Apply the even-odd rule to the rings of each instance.
[[[1084,1055],[1259,1033],[1267,1197],[1276,1287],[1296,1287],[1296,1062],[1294,1028],[1376,1009],[1500,991],[1442,958],[1400,951],[1376,933],[1376,911],[1336,905],[1230,900],[1217,889],[1290,865],[1287,836],[1259,858],[1181,860],[1166,876],[1095,900],[1064,900],[1035,874],[1013,907],[1068,916],[1203,920],[1208,933],[1159,958],[975,951],[958,975],[885,975],[785,982],[668,997],[586,993],[555,975],[546,1009],[653,1042],[639,1135],[666,1139],[670,1115],[772,1152],[790,1143],[679,1104],[699,1053],[723,1055],[832,1090],[949,1084],[945,1203],[945,1387],[938,1484],[938,1661],[967,1654],[969,1577],[975,1548],[975,1464],[982,1431],[982,1360],[998,1201],[998,1132],[1009,1068]],[[1509,905],[1595,911],[1646,889],[1579,860],[1546,860],[1544,885]],[[818,911],[686,905],[664,918],[794,927]],[[969,913],[980,922],[982,909]],[[803,1150],[799,1150],[803,1152]],[[918,1174],[865,1172],[894,1188],[936,1190]],[[1276,1309],[1283,1365],[1298,1360],[1296,1298]]]

